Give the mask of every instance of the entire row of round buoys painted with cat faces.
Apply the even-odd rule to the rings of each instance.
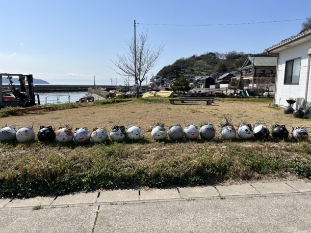
[[[143,131],[139,126],[131,126],[125,130],[124,126],[114,126],[110,132],[112,141],[122,141],[125,137],[137,140],[142,138]],[[197,125],[186,125],[183,129],[179,124],[166,128],[162,125],[153,127],[151,137],[155,140],[163,140],[169,136],[173,141],[182,139],[184,136],[187,139],[193,140],[200,135],[203,140],[211,140],[216,135],[216,129],[212,124],[203,125],[200,130]],[[224,126],[221,129],[220,135],[223,139],[230,140],[237,136],[237,132],[233,125]],[[269,129],[260,124],[256,124],[252,129],[250,124],[241,124],[238,129],[238,136],[242,139],[268,138],[270,135]],[[271,132],[273,138],[285,139],[289,137],[289,131],[284,125],[275,125]],[[37,137],[40,141],[69,142],[72,139],[77,143],[86,143],[92,140],[93,142],[103,142],[108,139],[108,130],[103,128],[94,128],[90,132],[86,127],[76,128],[72,132],[69,128],[60,127],[56,132],[51,126],[40,126]],[[308,131],[306,127],[295,127],[291,132],[291,138],[295,140],[304,140],[308,138]],[[35,139],[35,132],[32,127],[21,127],[17,131],[11,127],[6,126],[0,130],[0,141],[17,140],[18,142],[27,142]]]

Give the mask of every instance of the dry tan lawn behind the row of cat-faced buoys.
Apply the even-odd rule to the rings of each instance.
[[[306,126],[311,128],[310,119],[297,119],[292,114],[284,115],[282,109],[269,106],[269,103],[243,102],[220,100],[212,106],[202,103],[176,104],[149,103],[142,101],[130,101],[110,105],[98,105],[50,112],[32,112],[23,115],[0,118],[0,126],[16,125],[30,126],[34,124],[34,130],[38,131],[41,125],[59,128],[61,124],[70,124],[73,129],[87,126],[107,127],[115,125],[139,125],[143,131],[147,131],[156,122],[163,122],[166,126],[179,123],[183,127],[185,123],[200,124],[213,123],[219,129],[219,120],[223,114],[231,114],[234,125],[241,122],[253,124],[256,120],[264,122],[269,128],[272,124],[291,126]]]

